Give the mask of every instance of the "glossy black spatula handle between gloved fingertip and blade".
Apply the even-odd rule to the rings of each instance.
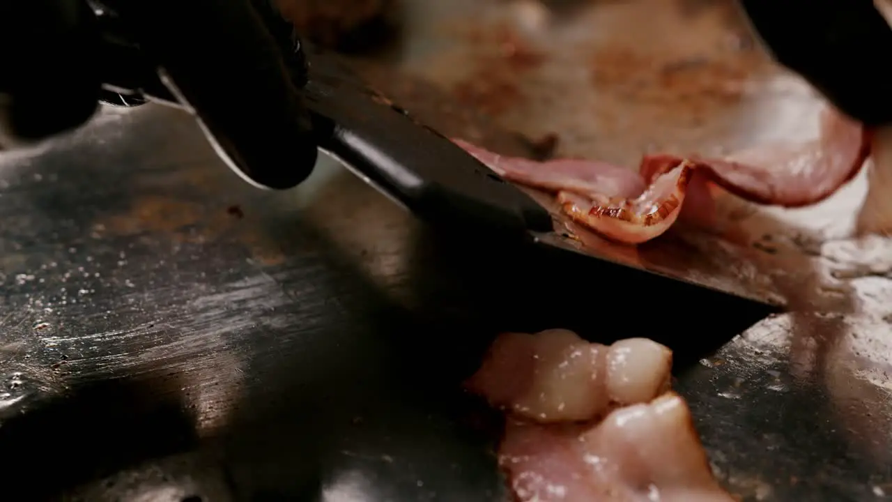
[[[366,88],[332,55],[308,51],[303,89],[320,148],[413,213],[493,231],[549,231],[540,205],[448,138]]]

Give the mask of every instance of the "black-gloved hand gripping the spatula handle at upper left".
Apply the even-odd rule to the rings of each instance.
[[[95,113],[126,66],[104,21],[135,42],[237,172],[267,188],[304,180],[317,158],[300,44],[268,0],[0,0],[0,140],[40,140]],[[283,38],[288,38],[284,41]]]

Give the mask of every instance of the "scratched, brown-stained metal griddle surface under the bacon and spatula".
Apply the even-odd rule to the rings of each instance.
[[[357,66],[444,134],[512,155],[529,150],[504,128],[633,164],[648,148],[744,146],[810,123],[816,96],[748,49],[717,2],[562,3],[566,17],[534,37],[571,48],[512,73],[516,92],[498,72],[470,75],[514,96],[494,103],[457,69],[500,71],[494,27],[516,22],[515,7],[409,1],[403,73]],[[754,65],[755,83],[715,58],[677,60],[726,42],[736,48],[719,59]],[[617,62],[715,79],[689,96],[630,84],[634,64]],[[594,79],[570,71],[595,63]],[[889,491],[888,243],[846,237],[863,179],[800,212],[728,200],[722,238],[640,250],[769,278],[793,312],[766,318],[761,304],[655,287],[574,253],[434,232],[334,162],[297,189],[259,192],[221,174],[194,121],[159,106],[105,110],[2,163],[4,497],[504,500],[498,420],[458,382],[497,331],[556,326],[673,347],[675,388],[723,484],[747,500]],[[515,260],[528,264],[519,275]],[[648,315],[617,314],[642,304]]]

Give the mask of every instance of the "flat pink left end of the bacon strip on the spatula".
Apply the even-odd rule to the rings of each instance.
[[[638,197],[645,184],[637,172],[598,161],[536,162],[493,154],[461,139],[453,141],[502,178],[550,192],[569,190],[587,197]]]

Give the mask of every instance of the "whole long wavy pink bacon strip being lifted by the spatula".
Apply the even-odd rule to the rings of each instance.
[[[871,154],[871,135],[830,108],[822,112],[820,129],[812,141],[762,146],[721,159],[646,155],[638,173],[597,161],[504,157],[454,141],[506,180],[556,194],[575,222],[606,238],[640,244],[668,230],[689,195],[697,205],[691,209],[708,211],[710,182],[764,205],[798,207],[830,197],[860,171]]]

